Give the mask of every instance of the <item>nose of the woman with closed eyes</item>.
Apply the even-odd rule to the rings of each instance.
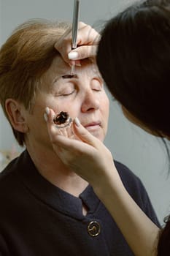
[[[93,89],[86,91],[82,101],[82,112],[97,110],[99,106],[97,91]]]

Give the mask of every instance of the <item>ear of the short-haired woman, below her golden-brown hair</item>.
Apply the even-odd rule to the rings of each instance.
[[[28,125],[24,116],[24,106],[15,99],[6,99],[5,108],[12,127],[18,132],[28,132]]]

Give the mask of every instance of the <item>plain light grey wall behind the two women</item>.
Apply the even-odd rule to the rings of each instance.
[[[29,18],[72,20],[73,0],[1,0],[0,1],[0,43]],[[82,0],[80,19],[94,25],[122,10],[132,1]],[[107,58],[107,56],[106,56]],[[110,97],[112,98],[112,97]],[[111,102],[109,131],[105,140],[113,157],[127,165],[139,176],[152,204],[163,223],[169,213],[169,162],[166,151],[158,139],[147,135],[123,116],[120,106]],[[0,148],[9,149],[15,143],[11,129],[0,110]]]

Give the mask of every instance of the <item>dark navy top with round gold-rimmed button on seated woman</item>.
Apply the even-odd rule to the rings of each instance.
[[[115,166],[129,194],[159,225],[142,182],[119,162]],[[64,192],[39,174],[27,151],[0,174],[0,206],[0,255],[134,255],[92,187],[80,197]]]

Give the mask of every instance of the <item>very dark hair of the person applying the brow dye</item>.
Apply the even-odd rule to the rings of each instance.
[[[98,68],[112,95],[145,127],[170,138],[170,1],[133,4],[101,33]],[[169,255],[170,222],[158,255]]]

